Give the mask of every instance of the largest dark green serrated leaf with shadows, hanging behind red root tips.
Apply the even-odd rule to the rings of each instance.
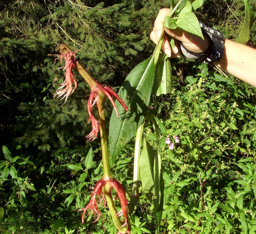
[[[119,118],[113,111],[109,127],[109,151],[112,157],[120,152],[141,125],[148,110],[153,80],[154,57],[137,65],[125,79],[118,95],[129,111],[125,112],[122,105],[115,102]]]

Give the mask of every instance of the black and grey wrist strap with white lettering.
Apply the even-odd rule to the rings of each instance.
[[[212,64],[219,62],[222,59],[224,53],[225,38],[222,33],[206,26],[203,22],[199,22],[202,28],[202,32],[209,39],[209,46],[207,50],[202,54],[195,54],[187,50],[183,44],[180,44],[181,51],[187,59],[195,59],[196,62]]]

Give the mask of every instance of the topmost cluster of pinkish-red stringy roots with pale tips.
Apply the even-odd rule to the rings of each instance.
[[[70,96],[75,89],[77,88],[77,82],[75,80],[74,73],[72,69],[74,68],[74,61],[76,58],[75,53],[73,52],[67,52],[65,55],[59,55],[61,62],[63,57],[65,57],[65,67],[63,70],[66,69],[65,72],[65,81],[60,84],[60,87],[56,90],[55,94],[53,97],[57,96],[57,98],[60,98],[63,96],[61,99],[65,98],[65,102],[67,101],[68,96]],[[72,84],[74,83],[74,88],[72,88]],[[65,104],[63,103],[63,105]]]

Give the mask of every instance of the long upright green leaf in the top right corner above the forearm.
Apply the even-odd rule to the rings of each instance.
[[[241,44],[246,44],[246,42],[248,42],[250,36],[250,27],[254,21],[254,12],[248,3],[248,0],[244,0],[244,8],[244,21],[240,34],[236,40]]]

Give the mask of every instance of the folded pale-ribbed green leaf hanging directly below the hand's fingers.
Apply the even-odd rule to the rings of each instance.
[[[162,67],[162,79],[160,87],[158,88],[156,95],[169,94],[172,92],[172,69],[169,58],[166,56],[163,61]]]

